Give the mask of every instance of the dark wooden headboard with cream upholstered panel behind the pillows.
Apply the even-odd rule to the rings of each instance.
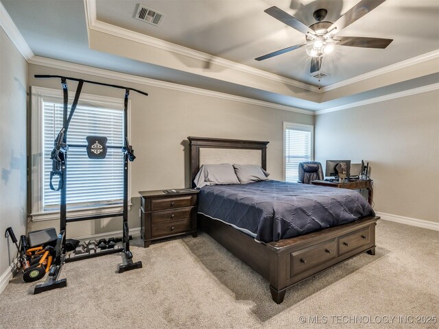
[[[213,163],[209,162],[209,159],[215,159],[215,163],[259,164],[267,170],[267,144],[270,142],[191,136],[187,139],[189,140],[189,170],[192,187],[194,187],[193,179],[200,170],[200,166],[204,163]],[[200,149],[206,151],[204,156],[200,156]],[[230,152],[225,150],[230,150]],[[242,152],[237,152],[237,150],[242,150]],[[241,159],[248,160],[243,163],[244,160]]]

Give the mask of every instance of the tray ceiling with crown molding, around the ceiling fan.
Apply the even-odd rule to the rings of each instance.
[[[0,0],[36,57],[149,77],[294,108],[327,110],[439,83],[439,4],[387,0],[340,36],[392,38],[387,49],[336,46],[320,82],[297,49],[305,41],[263,12],[276,5],[307,25],[327,8],[336,21],[358,0]],[[151,25],[139,3],[165,14]],[[38,61],[37,61],[38,62]]]

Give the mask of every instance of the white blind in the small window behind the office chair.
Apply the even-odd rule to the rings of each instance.
[[[299,162],[311,160],[311,132],[285,127],[285,180],[297,182]]]

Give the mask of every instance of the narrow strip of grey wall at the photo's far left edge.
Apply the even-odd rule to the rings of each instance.
[[[26,86],[27,62],[0,28],[0,276],[16,255],[6,228],[26,233]]]

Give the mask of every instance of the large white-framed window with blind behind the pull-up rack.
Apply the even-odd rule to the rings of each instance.
[[[69,93],[70,94],[70,93]],[[69,95],[69,110],[74,94]],[[62,90],[32,87],[32,220],[58,218],[60,192],[49,188],[54,140],[62,128]],[[106,136],[107,156],[91,160],[86,136]],[[123,99],[81,94],[67,132],[67,211],[119,211],[123,198]],[[54,178],[54,186],[58,179]],[[69,215],[70,217],[72,215]]]

